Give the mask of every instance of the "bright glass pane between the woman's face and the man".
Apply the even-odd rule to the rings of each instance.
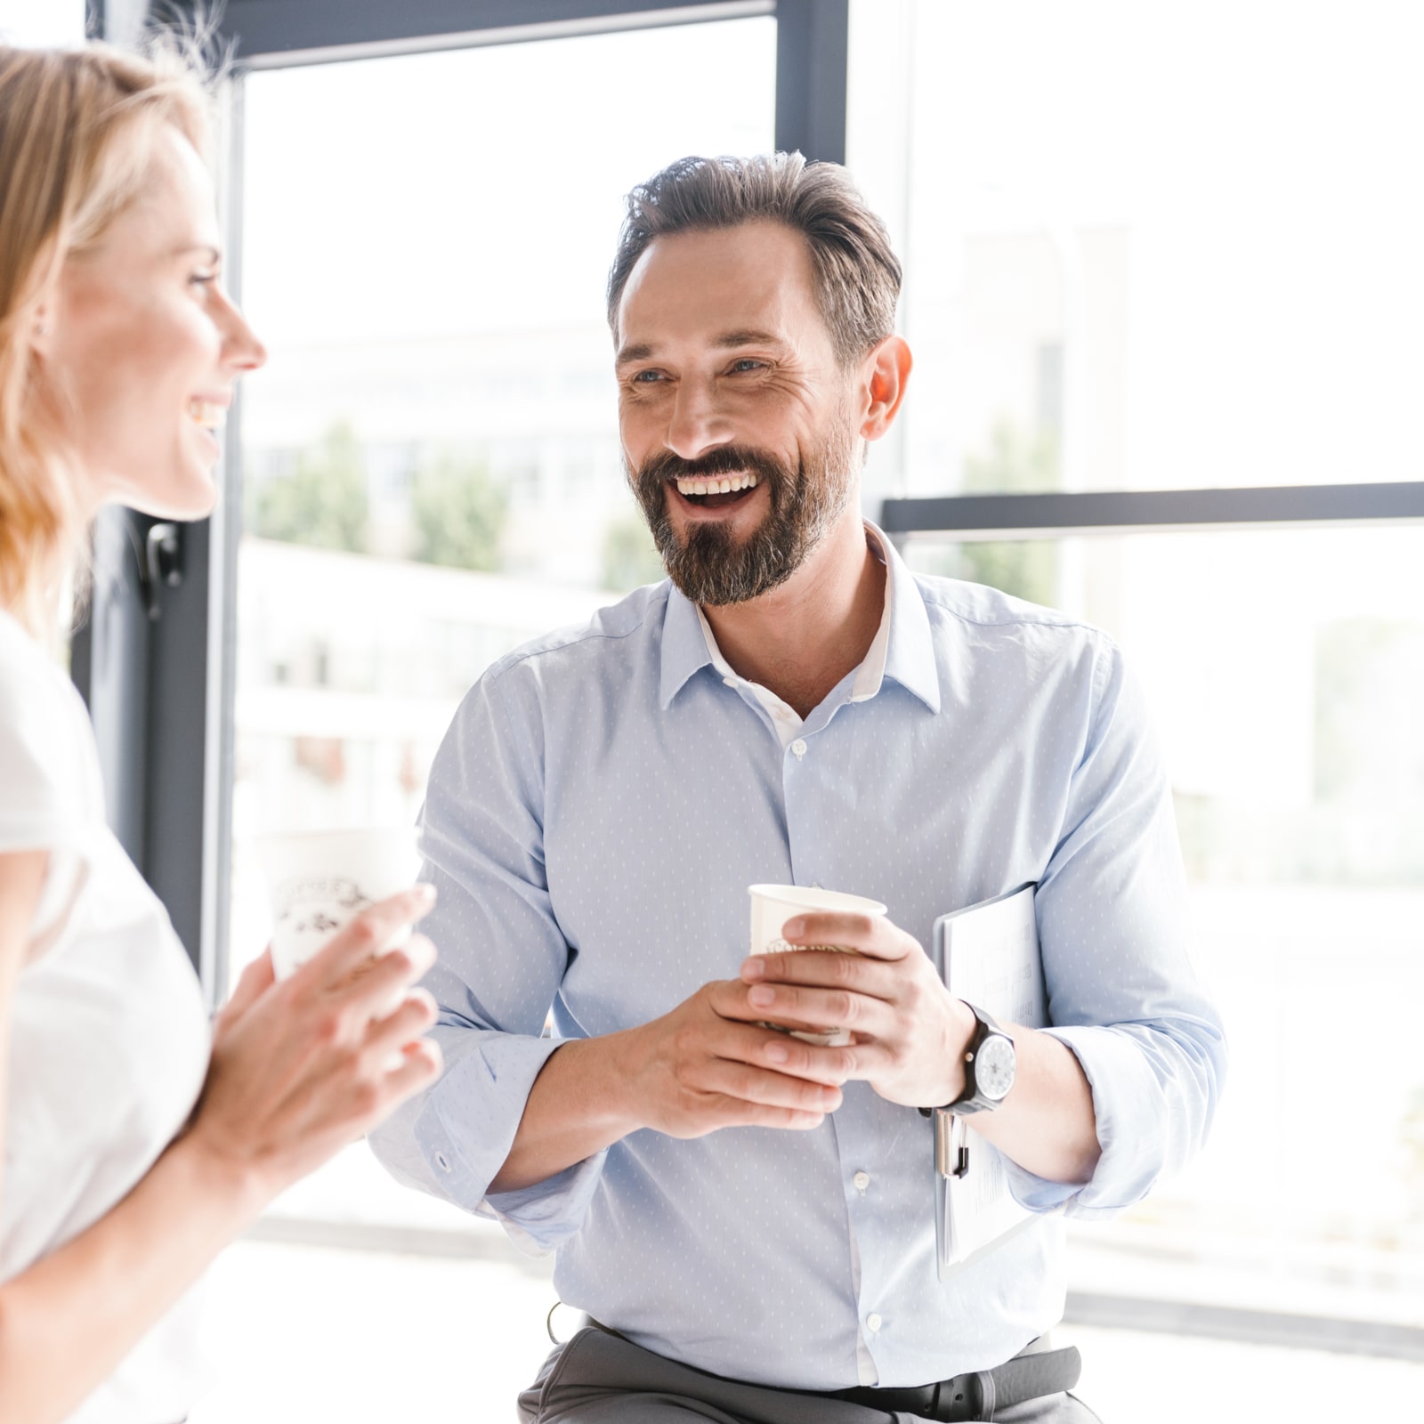
[[[770,148],[775,20],[252,74],[232,964],[265,832],[409,824],[460,696],[661,565],[622,478],[622,195]],[[363,1148],[278,1206],[474,1230]]]

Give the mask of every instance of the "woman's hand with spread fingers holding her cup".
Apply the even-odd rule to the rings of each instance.
[[[244,971],[214,1025],[188,1136],[244,1179],[256,1205],[440,1077],[440,1049],[420,1037],[434,1001],[410,988],[434,946],[414,934],[379,953],[433,904],[434,890],[414,886],[363,911],[290,978],[273,981],[271,954]]]

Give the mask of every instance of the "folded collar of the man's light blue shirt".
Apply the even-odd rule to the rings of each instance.
[[[914,575],[886,534],[866,520],[866,535],[886,565],[886,607],[864,661],[856,671],[850,701],[873,698],[884,678],[913,692],[931,712],[940,711],[940,675],[934,661],[930,615]],[[662,622],[659,701],[666,711],[684,684],[701,668],[716,666],[716,644],[701,609],[675,587],[668,588]]]

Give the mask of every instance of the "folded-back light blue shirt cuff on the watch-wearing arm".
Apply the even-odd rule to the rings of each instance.
[[[1108,1027],[1044,1028],[1078,1059],[1092,1089],[1099,1158],[1087,1183],[1051,1182],[1004,1158],[1010,1190],[1030,1212],[1094,1220],[1141,1200],[1162,1171],[1158,1125],[1166,1111],[1162,1088],[1142,1049]]]

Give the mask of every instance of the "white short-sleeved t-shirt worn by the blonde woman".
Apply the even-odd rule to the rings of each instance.
[[[10,1005],[0,1282],[108,1212],[188,1119],[211,1048],[168,914],[104,819],[74,685],[0,611],[0,852],[48,850]],[[171,1424],[208,1384],[197,1300],[125,1357],[67,1424]]]

